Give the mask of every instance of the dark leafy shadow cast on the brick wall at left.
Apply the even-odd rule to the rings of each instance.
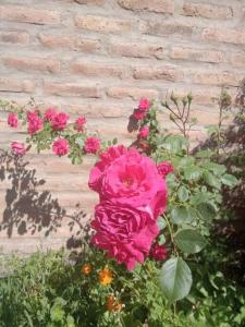
[[[82,238],[88,238],[87,214],[77,205],[73,214],[68,214],[49,191],[38,186],[46,181],[38,179],[36,169],[28,168],[28,161],[8,152],[0,153],[0,181],[8,181],[5,207],[3,208],[0,232],[9,238],[40,234],[48,238],[59,233],[65,219],[71,237],[66,240],[69,249],[78,247]],[[3,205],[3,204],[2,204]]]

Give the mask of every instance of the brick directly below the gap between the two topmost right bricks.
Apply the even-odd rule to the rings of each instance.
[[[139,23],[140,32],[150,35],[192,36],[194,28],[193,25],[179,23],[156,23],[154,21]]]

